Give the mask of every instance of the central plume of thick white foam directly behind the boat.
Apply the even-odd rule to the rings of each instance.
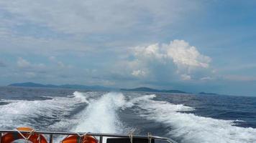
[[[117,115],[124,106],[125,98],[121,93],[110,92],[98,100],[89,102],[86,110],[80,114],[80,122],[76,132],[121,133],[124,131]]]

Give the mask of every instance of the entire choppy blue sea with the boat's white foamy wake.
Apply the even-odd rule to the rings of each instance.
[[[0,129],[170,137],[184,143],[256,142],[256,97],[0,87]]]

